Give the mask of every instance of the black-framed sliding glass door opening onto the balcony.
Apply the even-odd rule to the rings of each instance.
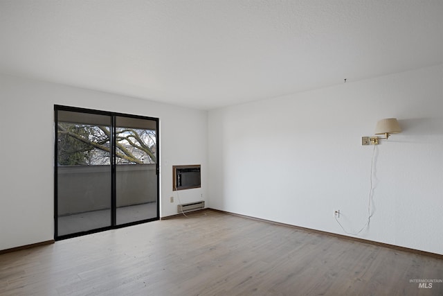
[[[55,106],[55,238],[159,219],[158,119]]]

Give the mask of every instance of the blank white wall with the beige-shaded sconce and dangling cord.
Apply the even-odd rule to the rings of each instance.
[[[338,78],[341,79],[341,78]],[[404,132],[374,156],[370,227],[359,237],[443,254],[443,65],[348,82],[208,114],[210,207],[345,234],[368,216],[373,135]]]

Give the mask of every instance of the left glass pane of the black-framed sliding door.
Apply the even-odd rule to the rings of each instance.
[[[57,119],[57,236],[111,226],[111,117]]]

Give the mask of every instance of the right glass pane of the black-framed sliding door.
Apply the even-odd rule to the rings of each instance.
[[[116,117],[116,223],[156,218],[156,121]]]

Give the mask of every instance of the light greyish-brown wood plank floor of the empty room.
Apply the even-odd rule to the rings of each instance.
[[[0,295],[443,295],[441,259],[201,214],[2,254]]]

